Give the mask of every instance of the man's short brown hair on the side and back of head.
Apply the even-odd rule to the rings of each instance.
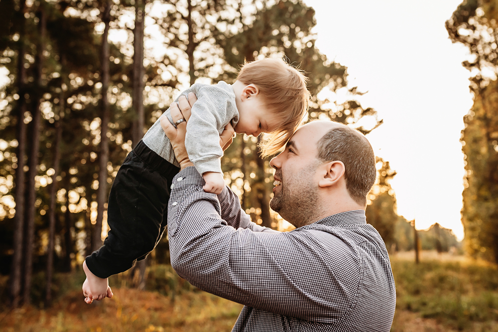
[[[358,130],[346,125],[330,129],[318,140],[317,159],[344,163],[346,188],[352,199],[366,206],[367,194],[375,182],[372,145]]]

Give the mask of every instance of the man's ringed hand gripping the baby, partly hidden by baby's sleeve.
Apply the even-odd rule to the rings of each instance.
[[[172,103],[169,107],[171,112],[171,117],[173,122],[184,118],[185,122],[179,123],[176,128],[169,122],[166,116],[163,116],[160,120],[162,130],[171,141],[171,146],[175,153],[176,160],[180,164],[180,169],[184,169],[188,166],[194,166],[190,162],[187,154],[187,149],[185,148],[185,133],[187,132],[187,122],[190,118],[192,106],[197,101],[197,97],[193,92],[188,94],[188,100],[185,96],[180,96],[177,103]],[[227,124],[225,130],[223,130],[220,135],[220,146],[223,151],[225,151],[230,144],[234,141],[235,129],[232,124]]]

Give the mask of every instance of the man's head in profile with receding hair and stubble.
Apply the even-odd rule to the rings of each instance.
[[[276,169],[270,207],[297,227],[365,209],[376,175],[367,138],[330,121],[300,127],[270,165]]]

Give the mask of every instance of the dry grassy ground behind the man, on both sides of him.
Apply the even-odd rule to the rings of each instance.
[[[409,254],[392,256],[391,265],[397,296],[392,332],[498,332],[495,265],[428,253],[418,265]],[[115,296],[92,305],[83,301],[82,272],[56,279],[51,308],[40,303],[41,276],[35,278],[35,306],[0,306],[0,331],[223,332],[231,331],[242,310],[242,305],[199,291],[168,265],[148,270],[145,291],[128,288],[126,275],[113,276]]]

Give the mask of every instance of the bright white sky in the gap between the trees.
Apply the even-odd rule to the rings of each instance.
[[[305,0],[317,47],[348,67],[350,86],[384,123],[367,137],[397,171],[398,214],[418,229],[439,222],[463,238],[460,132],[472,107],[465,46],[444,23],[462,0]]]

